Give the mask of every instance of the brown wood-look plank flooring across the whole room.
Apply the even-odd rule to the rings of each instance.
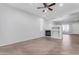
[[[76,55],[79,35],[63,35],[63,39],[41,37],[0,47],[1,55]]]

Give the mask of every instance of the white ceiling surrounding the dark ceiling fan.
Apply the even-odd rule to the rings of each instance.
[[[37,7],[43,6],[42,3],[10,3],[8,5],[22,9],[26,12],[32,13],[34,15],[43,17],[44,19],[56,19],[65,15],[68,15],[76,10],[79,10],[79,3],[63,3],[63,6],[59,6],[60,3],[57,3],[54,7],[54,11],[47,10],[46,13],[43,13],[43,9],[37,9]],[[78,14],[79,15],[79,14]]]

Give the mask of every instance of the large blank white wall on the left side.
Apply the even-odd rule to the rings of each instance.
[[[40,19],[0,4],[0,46],[43,36]]]

